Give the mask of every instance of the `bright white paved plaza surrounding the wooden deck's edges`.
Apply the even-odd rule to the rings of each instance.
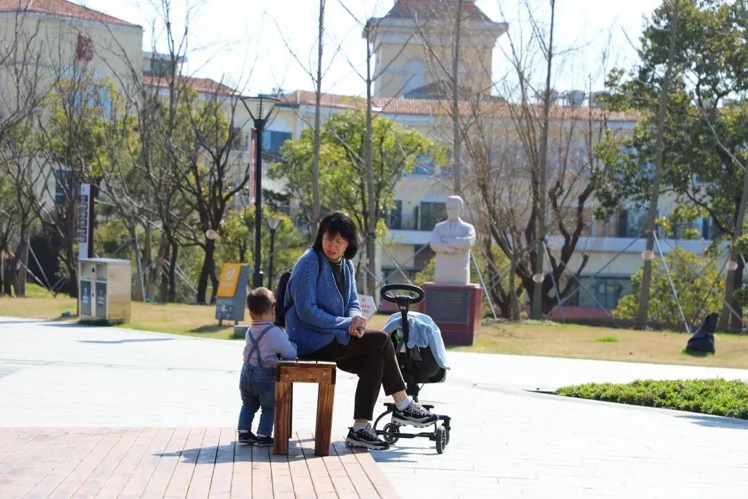
[[[0,427],[231,428],[241,355],[239,341],[0,318]],[[748,370],[459,352],[448,361],[447,382],[423,388],[423,399],[452,417],[447,451],[418,438],[372,453],[403,498],[747,495],[748,421],[537,391],[649,378],[748,381]],[[339,373],[334,442],[350,424],[354,391],[355,377]],[[312,431],[316,387],[298,385],[294,404],[294,429]]]

